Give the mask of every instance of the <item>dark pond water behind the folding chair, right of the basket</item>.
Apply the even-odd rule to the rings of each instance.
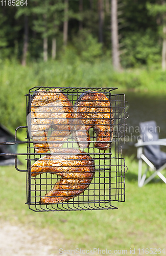
[[[126,109],[129,117],[126,119],[128,131],[125,143],[123,143],[123,153],[136,156],[134,144],[139,135],[139,122],[156,121],[159,126],[159,138],[166,138],[166,95],[138,92],[126,92],[125,95],[126,101],[129,103]]]

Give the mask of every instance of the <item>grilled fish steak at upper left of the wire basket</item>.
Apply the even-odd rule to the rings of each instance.
[[[39,90],[31,98],[31,136],[36,153],[56,152],[73,129],[74,108],[59,89]],[[55,130],[49,139],[50,127]],[[59,138],[59,144],[54,143]],[[51,142],[52,141],[52,142]],[[62,142],[61,142],[62,141]]]

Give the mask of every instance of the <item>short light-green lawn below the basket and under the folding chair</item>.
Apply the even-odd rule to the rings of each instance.
[[[112,203],[117,210],[65,212],[29,210],[25,204],[26,173],[17,172],[13,166],[1,166],[1,220],[33,226],[41,232],[47,228],[50,236],[59,233],[64,237],[59,244],[63,249],[107,248],[129,252],[130,248],[164,248],[166,186],[155,180],[138,188],[137,161],[126,158],[126,164],[126,202]]]

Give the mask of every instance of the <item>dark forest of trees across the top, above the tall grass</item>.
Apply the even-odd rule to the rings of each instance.
[[[19,6],[16,6],[19,3]],[[0,1],[0,59],[112,58],[116,70],[166,69],[165,0]]]

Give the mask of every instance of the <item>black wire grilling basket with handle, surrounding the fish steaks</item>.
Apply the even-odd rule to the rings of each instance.
[[[27,115],[31,112],[31,96],[35,91],[44,89],[49,91],[55,87],[34,87],[27,94]],[[95,162],[96,173],[89,187],[83,193],[67,202],[57,204],[41,204],[40,197],[51,190],[59,180],[55,174],[39,174],[31,177],[32,164],[49,153],[36,153],[33,141],[29,136],[27,126],[19,126],[15,131],[14,143],[27,143],[27,153],[15,155],[15,167],[17,170],[27,172],[27,204],[34,211],[66,211],[66,210],[92,210],[92,209],[117,209],[112,201],[125,201],[125,172],[127,167],[122,157],[121,138],[125,136],[125,108],[127,107],[124,94],[112,94],[117,88],[62,88],[56,87],[69,98],[74,104],[75,100],[85,91],[92,90],[105,94],[111,101],[114,119],[113,139],[107,151],[94,148],[96,134],[90,131],[91,144],[84,152],[88,153]],[[27,141],[17,142],[17,131],[19,128],[27,129]],[[67,141],[66,141],[67,142]],[[9,143],[9,142],[8,142]],[[13,143],[13,142],[12,142]],[[68,142],[67,142],[68,143]],[[70,141],[71,143],[71,141]],[[76,143],[76,141],[73,141]],[[112,150],[113,149],[113,150]],[[57,153],[58,154],[58,153]],[[27,156],[27,170],[21,170],[17,166],[17,155]]]

